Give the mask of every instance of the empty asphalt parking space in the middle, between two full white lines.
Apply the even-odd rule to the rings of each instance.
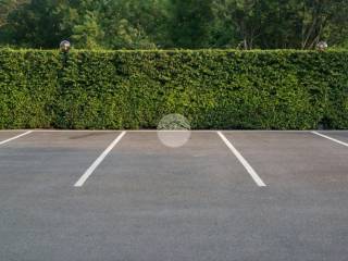
[[[157,133],[128,133],[91,177],[99,188],[129,188],[145,194],[183,190],[212,196],[223,189],[254,189],[254,183],[215,133],[194,133],[177,149]],[[182,191],[181,191],[182,189]],[[194,195],[191,195],[194,197]]]

